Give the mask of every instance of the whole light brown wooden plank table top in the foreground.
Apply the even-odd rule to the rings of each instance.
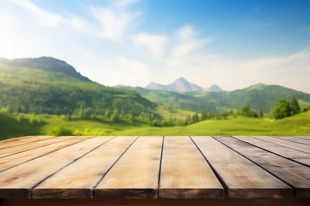
[[[0,199],[224,196],[310,199],[310,136],[25,136],[0,141]]]

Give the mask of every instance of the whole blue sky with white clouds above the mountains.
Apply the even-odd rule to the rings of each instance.
[[[0,0],[0,57],[52,56],[103,85],[310,93],[310,0]]]

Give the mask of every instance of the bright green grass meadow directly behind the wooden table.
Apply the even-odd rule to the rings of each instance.
[[[167,112],[162,109],[163,112]],[[187,115],[184,111],[172,113],[180,117]],[[16,115],[0,114],[0,139],[47,135],[59,125],[70,129],[74,135],[310,135],[310,111],[281,120],[237,117],[173,127],[151,127],[147,124],[127,122],[66,121],[53,115],[39,115],[31,124],[29,120],[33,118],[32,115],[19,116],[21,118],[17,121]]]

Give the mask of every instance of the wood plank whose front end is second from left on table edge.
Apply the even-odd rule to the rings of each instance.
[[[93,188],[136,138],[113,138],[40,183],[32,190],[32,197],[92,198]]]

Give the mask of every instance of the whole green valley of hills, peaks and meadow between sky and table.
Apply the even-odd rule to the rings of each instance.
[[[0,139],[26,135],[310,135],[308,93],[262,83],[223,91],[217,85],[202,88],[184,78],[161,86],[109,87],[52,57],[0,58]],[[292,98],[296,98],[297,112],[293,112]],[[281,102],[290,107],[286,116],[281,116]]]

